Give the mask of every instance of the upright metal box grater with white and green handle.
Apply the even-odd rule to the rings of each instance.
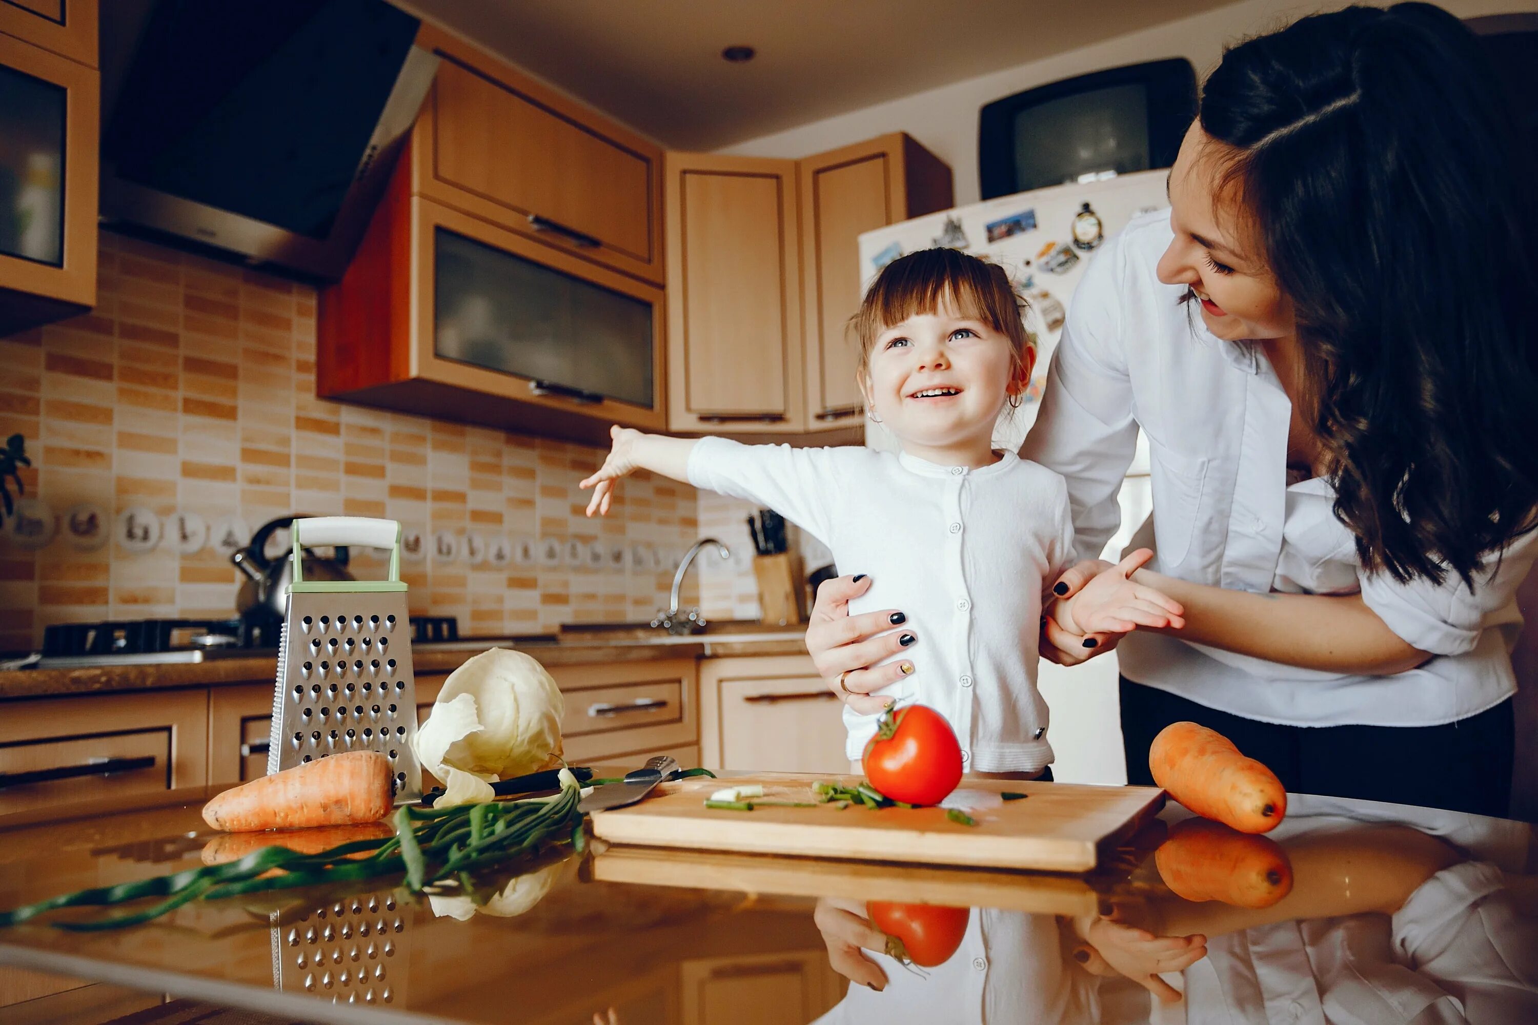
[[[391,759],[395,802],[421,798],[417,681],[411,667],[400,524],[318,516],[294,521],[294,582],[278,638],[268,775],[343,751]],[[389,579],[306,581],[305,546],[389,549]]]

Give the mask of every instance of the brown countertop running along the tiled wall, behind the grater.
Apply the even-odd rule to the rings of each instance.
[[[595,665],[641,662],[669,658],[724,658],[741,655],[804,655],[801,629],[721,630],[689,636],[640,633],[635,630],[575,630],[552,636],[549,642],[521,650],[544,665]],[[486,641],[492,647],[495,641]],[[417,647],[412,664],[418,676],[449,673],[469,656],[484,650],[474,641],[457,641],[451,649]],[[14,698],[60,698],[174,687],[218,687],[226,684],[271,682],[277,673],[275,655],[220,656],[205,662],[160,665],[98,665],[89,668],[18,668],[0,672],[0,701]]]

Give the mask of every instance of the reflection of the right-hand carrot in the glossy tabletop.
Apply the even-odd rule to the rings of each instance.
[[[1164,885],[1186,901],[1269,908],[1292,890],[1292,864],[1275,841],[1207,819],[1177,822],[1154,864]]]

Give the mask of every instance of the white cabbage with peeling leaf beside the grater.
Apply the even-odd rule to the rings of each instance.
[[[491,784],[560,762],[561,692],[523,652],[491,649],[443,681],[412,742],[417,761],[443,781],[438,807],[492,799]]]

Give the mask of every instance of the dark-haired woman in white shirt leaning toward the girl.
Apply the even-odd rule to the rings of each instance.
[[[1021,455],[1067,479],[1089,555],[1149,438],[1134,547],[1186,627],[1121,642],[1132,782],[1190,719],[1289,790],[1506,811],[1538,504],[1538,220],[1512,124],[1444,11],[1303,18],[1224,55],[1170,211],[1086,272]],[[807,630],[858,710],[897,672],[863,668],[897,650],[889,612],[844,616],[866,585],[826,584]],[[1064,664],[1110,647],[1043,630]]]

